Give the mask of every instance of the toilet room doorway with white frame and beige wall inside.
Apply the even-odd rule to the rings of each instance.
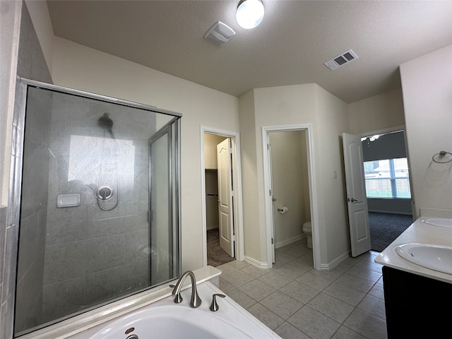
[[[311,221],[314,268],[320,269],[312,125],[263,127],[262,138],[268,268],[275,248],[304,238],[302,225]]]

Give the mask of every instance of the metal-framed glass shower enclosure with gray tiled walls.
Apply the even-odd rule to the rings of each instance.
[[[19,90],[15,336],[179,277],[181,114]]]

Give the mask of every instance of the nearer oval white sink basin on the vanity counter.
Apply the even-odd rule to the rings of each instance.
[[[434,244],[404,244],[396,252],[416,265],[452,274],[452,246]]]

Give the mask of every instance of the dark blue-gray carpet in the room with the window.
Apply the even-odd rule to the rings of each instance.
[[[381,252],[412,224],[412,215],[369,212],[371,249]]]

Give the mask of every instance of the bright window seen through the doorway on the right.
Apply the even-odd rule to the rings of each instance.
[[[364,162],[367,198],[411,198],[406,157]]]

